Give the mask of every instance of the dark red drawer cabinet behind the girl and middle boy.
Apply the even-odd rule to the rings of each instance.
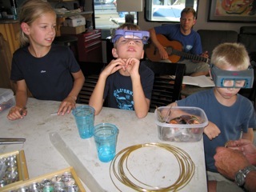
[[[78,61],[79,62],[102,62],[102,32],[91,30],[78,37]]]

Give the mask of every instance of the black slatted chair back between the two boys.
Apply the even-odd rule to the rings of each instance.
[[[143,61],[146,66],[154,71],[154,86],[151,94],[150,112],[156,106],[166,106],[180,99],[183,75],[186,65],[170,62]],[[171,78],[174,76],[174,78]]]

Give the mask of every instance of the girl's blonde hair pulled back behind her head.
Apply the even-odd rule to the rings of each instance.
[[[26,2],[22,4],[18,14],[19,22],[20,24],[26,22],[26,24],[30,26],[34,20],[46,13],[55,14],[54,9],[50,6],[49,2],[43,0],[26,0]],[[23,33],[22,29],[20,29],[19,39],[21,46],[30,44],[29,38]]]

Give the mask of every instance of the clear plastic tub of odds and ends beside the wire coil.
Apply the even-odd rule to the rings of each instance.
[[[205,112],[198,107],[161,106],[154,111],[154,115],[158,138],[162,141],[197,142],[208,125]]]

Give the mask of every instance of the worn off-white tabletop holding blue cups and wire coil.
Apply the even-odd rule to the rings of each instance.
[[[6,118],[8,110],[2,111],[0,114],[1,138],[26,138],[26,142],[1,145],[0,154],[24,150],[30,178],[62,170],[70,165],[62,157],[62,154],[58,153],[49,138],[51,132],[57,132],[104,190],[118,191],[110,179],[110,162],[98,160],[94,138],[82,139],[79,137],[72,114],[50,115],[56,112],[59,104],[60,102],[29,98],[28,114],[25,118],[16,121],[9,121]],[[110,122],[118,126],[117,153],[126,147],[149,142],[168,143],[185,150],[193,160],[195,170],[193,178],[180,191],[207,191],[202,140],[199,142],[161,141],[158,138],[153,113],[149,113],[146,118],[138,119],[134,111],[103,107],[101,113],[94,119],[95,125],[101,122]],[[130,158],[129,163],[130,169],[136,172],[136,178],[145,179],[145,182],[153,186],[171,185],[179,176],[178,161],[174,155],[156,147],[138,150],[134,157]],[[84,184],[86,191],[93,191],[86,187],[86,183]],[[122,191],[134,191],[126,188],[120,182],[116,182],[116,184]]]

